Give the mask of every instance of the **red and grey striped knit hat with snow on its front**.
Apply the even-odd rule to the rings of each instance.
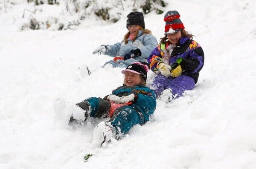
[[[164,34],[174,34],[175,32],[184,29],[184,25],[180,20],[180,14],[177,11],[168,11],[164,15],[164,19],[166,22]]]

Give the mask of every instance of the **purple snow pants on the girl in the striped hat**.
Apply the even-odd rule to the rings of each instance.
[[[149,85],[149,87],[154,90],[157,98],[161,95],[163,90],[172,89],[172,94],[176,98],[182,96],[182,93],[185,90],[192,90],[195,87],[195,81],[192,77],[186,75],[180,75],[176,78],[163,76],[162,74],[158,74],[154,77],[153,82]]]

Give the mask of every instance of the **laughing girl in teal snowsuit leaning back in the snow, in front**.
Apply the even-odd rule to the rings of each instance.
[[[105,146],[111,138],[119,139],[136,124],[143,125],[149,121],[149,115],[156,108],[156,96],[146,87],[148,65],[134,62],[122,73],[125,74],[124,85],[102,98],[90,97],[76,105],[84,111],[84,121],[88,117],[107,118],[93,131],[92,146]],[[69,124],[77,124],[73,116]]]

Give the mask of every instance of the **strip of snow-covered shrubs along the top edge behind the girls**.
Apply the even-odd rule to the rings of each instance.
[[[26,28],[76,29],[81,22],[84,22],[83,20],[90,16],[97,20],[104,20],[106,23],[116,23],[128,11],[143,11],[144,14],[154,11],[156,14],[161,14],[164,11],[163,7],[167,4],[164,0],[26,0],[26,2],[35,2],[35,6],[40,6],[42,12],[36,13],[32,9],[24,9],[22,18],[25,18],[25,11],[29,11],[33,17],[28,17],[29,22],[24,23],[21,30],[26,30]],[[52,6],[54,4],[55,6]],[[47,5],[55,9],[55,14],[52,12],[45,14]],[[55,19],[52,19],[53,17]]]

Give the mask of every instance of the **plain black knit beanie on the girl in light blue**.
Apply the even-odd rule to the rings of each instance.
[[[145,28],[143,13],[135,11],[128,14],[127,17],[126,28],[128,28],[129,25],[140,25]]]

